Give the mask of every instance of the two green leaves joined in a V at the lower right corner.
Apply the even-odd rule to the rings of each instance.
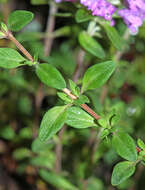
[[[112,140],[116,152],[128,161],[118,163],[112,173],[112,185],[119,185],[135,172],[137,151],[134,140],[125,132],[114,134]]]

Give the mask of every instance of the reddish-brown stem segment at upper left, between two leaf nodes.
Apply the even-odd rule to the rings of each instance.
[[[9,31],[6,33],[6,37],[11,40],[17,48],[32,62],[34,62],[33,57],[30,55],[30,53],[16,40],[16,38],[13,36],[13,34]]]

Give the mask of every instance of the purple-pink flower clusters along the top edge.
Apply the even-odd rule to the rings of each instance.
[[[55,1],[61,2],[62,0]],[[111,25],[114,25],[112,17],[117,8],[107,0],[80,0],[80,3],[91,10],[92,15],[104,17],[105,20],[111,21]],[[131,33],[136,34],[145,20],[145,0],[125,0],[125,3],[127,8],[118,10],[117,14],[123,18]]]

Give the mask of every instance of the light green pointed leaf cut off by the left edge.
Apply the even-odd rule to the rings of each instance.
[[[12,69],[24,65],[26,61],[16,50],[11,48],[0,48],[0,67]]]

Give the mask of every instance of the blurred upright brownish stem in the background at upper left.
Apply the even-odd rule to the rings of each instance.
[[[46,28],[46,38],[44,41],[44,54],[45,56],[48,56],[51,51],[53,38],[50,37],[50,33],[53,33],[54,27],[55,27],[55,13],[57,12],[57,7],[54,3],[50,4],[49,8],[49,18],[47,21],[47,28]]]

